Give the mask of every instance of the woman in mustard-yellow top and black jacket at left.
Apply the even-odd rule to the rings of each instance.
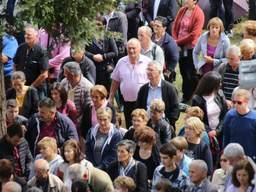
[[[12,85],[6,92],[6,100],[16,99],[18,102],[19,115],[30,119],[32,115],[38,112],[39,98],[37,90],[33,87],[25,86],[26,78],[22,71],[12,74]]]

